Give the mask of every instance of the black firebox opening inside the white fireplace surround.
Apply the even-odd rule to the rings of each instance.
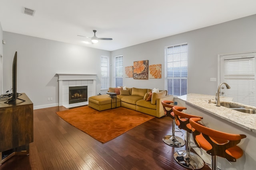
[[[87,102],[87,86],[69,87],[69,104]]]

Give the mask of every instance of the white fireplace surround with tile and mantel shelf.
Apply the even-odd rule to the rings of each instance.
[[[57,74],[58,75],[58,96],[59,106],[76,107],[88,104],[80,102],[75,104],[68,103],[68,88],[74,86],[87,86],[87,98],[96,95],[96,77],[97,74]]]

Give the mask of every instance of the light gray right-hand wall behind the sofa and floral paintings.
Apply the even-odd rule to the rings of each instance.
[[[112,62],[114,62],[114,56],[122,54],[124,67],[132,66],[134,61],[140,60],[149,60],[149,65],[162,64],[161,79],[124,78],[123,85],[164,89],[164,47],[187,42],[188,93],[215,95],[218,84],[210,82],[210,78],[218,77],[218,54],[256,51],[255,30],[256,15],[248,16],[112,51]],[[112,75],[114,75],[114,69]],[[112,81],[112,86],[114,86],[114,81]]]

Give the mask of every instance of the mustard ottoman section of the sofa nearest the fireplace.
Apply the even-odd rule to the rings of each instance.
[[[112,100],[112,107],[111,107]],[[88,106],[98,110],[106,110],[111,108],[116,108],[121,106],[121,100],[118,97],[111,98],[108,94],[91,96],[88,99]]]

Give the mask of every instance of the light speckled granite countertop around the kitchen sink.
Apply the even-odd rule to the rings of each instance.
[[[207,111],[208,113],[216,115],[244,129],[256,133],[256,114],[242,113],[223,106],[218,107],[215,103],[215,96],[204,94],[187,94],[184,96],[179,96],[178,98],[188,104],[191,104],[192,106],[198,107],[204,111]],[[209,100],[211,100],[211,103],[209,103]],[[232,98],[220,97],[220,102],[232,103],[238,106],[243,106],[244,108],[256,110],[256,107],[232,102]]]

